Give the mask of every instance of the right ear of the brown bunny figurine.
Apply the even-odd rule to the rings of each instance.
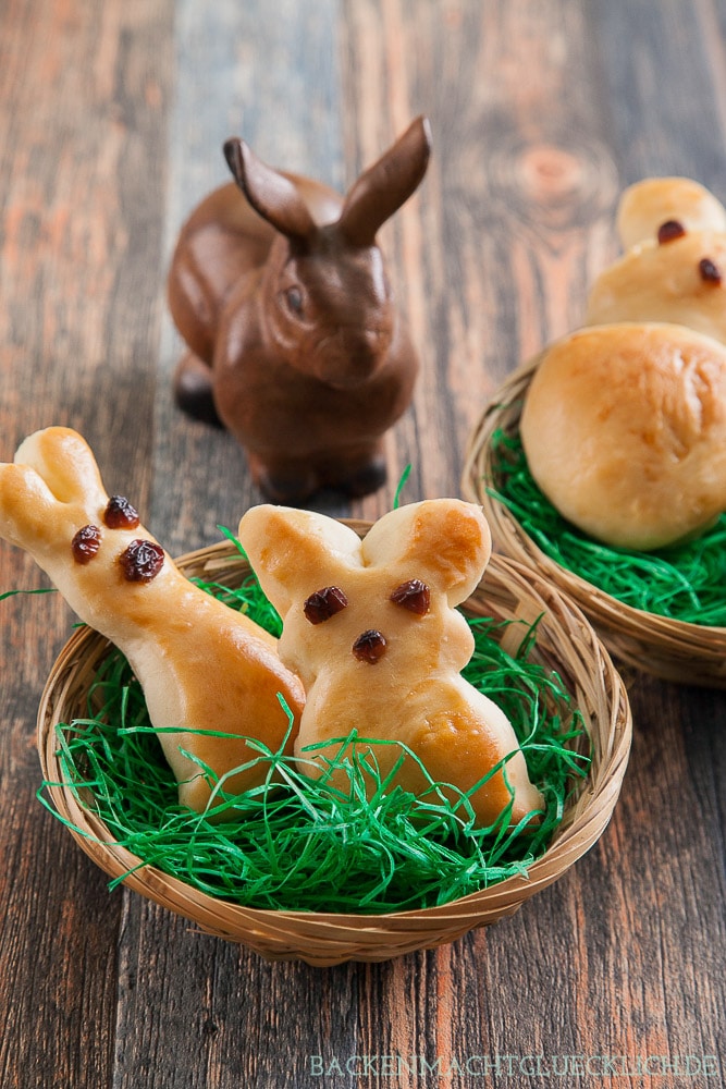
[[[418,187],[430,155],[431,126],[417,118],[348,191],[337,228],[352,245],[373,245],[379,228]]]

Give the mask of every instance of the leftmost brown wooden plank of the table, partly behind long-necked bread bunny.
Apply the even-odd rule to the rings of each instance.
[[[0,456],[70,424],[141,505],[171,14],[137,0],[0,12]],[[1,590],[41,583],[2,546]],[[72,619],[58,596],[0,610],[0,1082],[110,1085],[122,901],[35,798],[36,708]]]

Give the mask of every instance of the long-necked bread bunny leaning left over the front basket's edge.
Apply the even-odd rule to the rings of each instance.
[[[258,756],[244,735],[280,748],[288,718],[278,694],[297,723],[300,682],[272,636],[189,583],[127,501],[109,498],[75,431],[37,431],[0,465],[0,537],[29,552],[77,615],[126,656],[183,805],[201,812],[210,799],[207,776],[183,750],[213,776],[229,775],[226,793],[264,780],[266,768],[230,772]]]

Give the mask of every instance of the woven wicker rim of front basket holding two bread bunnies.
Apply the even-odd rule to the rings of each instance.
[[[361,535],[371,525],[364,519],[341,521]],[[239,550],[229,540],[185,553],[176,563],[187,575],[198,574],[205,570],[210,578],[221,576],[222,579],[230,573],[249,570]],[[485,925],[487,921],[496,921],[496,918],[513,914],[525,900],[557,880],[604,832],[619,795],[628,762],[632,718],[623,678],[583,612],[571,599],[542,576],[533,574],[524,564],[508,556],[492,554],[484,578],[478,588],[484,596],[488,592],[488,575],[492,585],[496,585],[499,578],[503,586],[518,587],[527,599],[533,600],[538,607],[544,604],[545,609],[551,611],[556,604],[557,609],[567,614],[582,645],[593,653],[596,675],[605,693],[610,715],[608,721],[601,726],[602,754],[596,778],[592,778],[591,768],[578,797],[571,803],[568,802],[568,810],[577,809],[577,812],[571,820],[563,821],[544,854],[537,858],[525,873],[514,874],[443,905],[405,911],[340,914],[246,907],[198,891],[180,878],[157,869],[153,864],[145,862],[127,848],[120,846],[104,822],[93,810],[86,809],[81,804],[73,787],[62,782],[57,764],[54,736],[56,725],[60,720],[56,714],[56,705],[58,702],[62,705],[64,686],[67,690],[78,663],[87,661],[89,652],[99,658],[103,657],[111,646],[107,639],[87,627],[77,628],[66,641],[47,678],[38,709],[37,745],[44,779],[48,784],[47,790],[53,806],[79,846],[107,873],[121,878],[123,883],[176,914],[194,919],[202,930],[218,933],[220,937],[231,937],[224,932],[225,929],[229,931],[229,926],[226,928],[216,926],[210,930],[209,925],[199,923],[195,913],[198,915],[198,910],[202,909],[207,923],[209,916],[222,915],[227,923],[233,919],[236,923],[251,926],[253,931],[256,926],[263,926],[267,933],[271,927],[274,928],[275,922],[283,925],[285,921],[294,923],[298,929],[302,927],[311,934],[319,927],[327,928],[329,933],[324,944],[328,950],[330,950],[330,929],[335,927],[342,930],[348,928],[350,931],[355,929],[356,938],[367,943],[370,943],[376,935],[391,938],[396,930],[406,929],[411,933],[420,932],[421,937],[427,938],[427,944],[430,944],[433,937],[431,926],[436,923],[446,928],[446,935],[441,940],[452,941],[457,937],[456,933],[452,933],[452,926],[459,928],[459,932],[464,933],[473,927]],[[469,599],[468,603],[472,608],[477,605],[478,591],[475,591]],[[487,610],[487,614],[491,615],[491,610]],[[91,658],[91,672],[93,662],[97,663],[99,658]],[[575,706],[578,706],[576,695],[570,695]],[[194,910],[189,909],[189,905]],[[483,922],[480,918],[482,909],[488,914]],[[236,930],[236,927],[233,929]],[[346,933],[346,937],[349,938],[350,934]],[[290,934],[287,938],[290,939]],[[239,938],[235,940],[247,941]],[[250,944],[248,941],[247,943]],[[306,950],[308,950],[307,938]],[[263,952],[263,955],[269,955],[269,952]],[[306,958],[305,952],[298,952],[297,955]],[[385,955],[396,954],[382,954],[381,958]],[[315,963],[323,962],[316,959]],[[339,960],[335,958],[324,963],[339,963]]]

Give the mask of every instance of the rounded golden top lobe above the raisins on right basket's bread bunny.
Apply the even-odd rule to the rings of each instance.
[[[713,193],[690,178],[647,178],[624,191],[617,210],[617,232],[624,249],[654,242],[669,221],[686,231],[726,231],[726,208]]]

